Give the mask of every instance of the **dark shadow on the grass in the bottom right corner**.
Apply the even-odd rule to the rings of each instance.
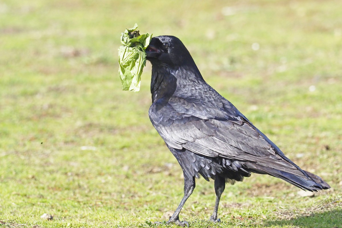
[[[342,228],[342,209],[313,213],[292,219],[265,222],[265,226],[291,225],[301,228]]]

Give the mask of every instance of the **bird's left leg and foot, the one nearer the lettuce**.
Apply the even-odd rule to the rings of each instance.
[[[174,223],[179,226],[189,227],[188,222],[179,220],[179,213],[181,212],[182,207],[185,204],[185,201],[189,198],[191,193],[194,191],[195,186],[196,186],[195,177],[187,177],[186,174],[184,173],[184,197],[181,203],[179,204],[179,206],[177,207],[176,211],[173,213],[173,215],[171,216],[171,218],[169,219],[167,223]]]

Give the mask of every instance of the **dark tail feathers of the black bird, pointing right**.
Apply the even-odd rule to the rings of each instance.
[[[305,170],[301,170],[300,172],[293,174],[271,167],[251,163],[247,164],[247,167],[249,168],[249,171],[253,173],[268,174],[278,177],[303,190],[318,191],[321,189],[330,188],[330,186],[324,180],[322,180],[322,178]]]

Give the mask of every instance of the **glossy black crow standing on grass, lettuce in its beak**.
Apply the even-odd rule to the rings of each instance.
[[[330,186],[302,170],[259,131],[237,108],[202,78],[184,44],[173,36],[152,38],[146,49],[152,64],[149,118],[183,169],[184,197],[168,221],[180,226],[179,213],[195,188],[195,177],[214,179],[216,201],[225,183],[251,172],[268,174],[304,190]]]

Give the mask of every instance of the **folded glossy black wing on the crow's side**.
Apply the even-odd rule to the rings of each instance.
[[[166,144],[175,149],[235,159],[251,170],[267,167],[310,179],[228,100],[220,96],[209,102],[161,99],[150,107],[149,117]]]

